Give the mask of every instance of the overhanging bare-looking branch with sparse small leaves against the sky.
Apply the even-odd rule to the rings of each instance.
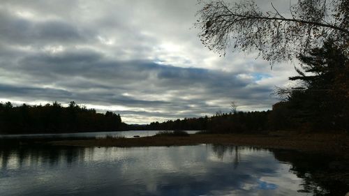
[[[244,52],[257,50],[275,63],[333,38],[334,45],[349,53],[349,0],[298,0],[290,6],[290,17],[273,4],[273,11],[263,12],[252,0],[200,2],[205,5],[197,13],[195,27],[202,43],[215,52],[225,54],[232,45]]]

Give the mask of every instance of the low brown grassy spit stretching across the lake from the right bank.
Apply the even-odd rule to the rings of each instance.
[[[272,149],[294,149],[329,153],[349,159],[349,135],[344,133],[302,134],[191,134],[188,137],[103,138],[94,140],[61,140],[48,142],[60,146],[184,146],[195,144],[231,144]]]

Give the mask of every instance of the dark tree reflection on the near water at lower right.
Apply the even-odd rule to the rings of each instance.
[[[244,158],[240,151],[264,151],[265,149],[247,147],[247,146],[227,146],[212,145],[212,150],[216,153],[217,158],[223,160],[228,153],[234,159],[232,160],[233,169],[237,169]],[[303,179],[303,189],[297,190],[299,193],[311,193],[311,195],[346,195],[349,190],[348,184],[329,178],[330,176],[341,176],[342,171],[331,168],[330,165],[335,163],[336,158],[320,154],[302,153],[299,151],[288,151],[280,149],[270,149],[274,153],[274,158],[281,163],[290,163],[290,172]]]

